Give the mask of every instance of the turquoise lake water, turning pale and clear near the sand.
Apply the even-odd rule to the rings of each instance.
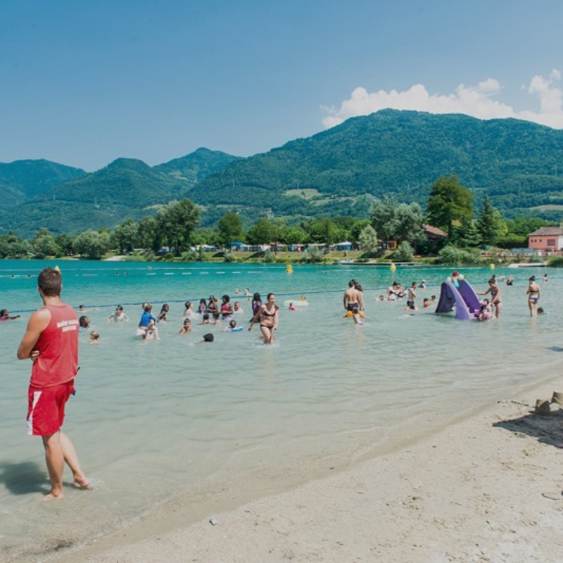
[[[419,304],[438,296],[446,268],[297,265],[286,274],[283,265],[60,262],[63,298],[98,308],[87,315],[101,343],[81,335],[77,396],[64,426],[96,490],[68,488],[53,506],[39,495],[48,488],[42,445],[25,435],[30,362],[15,358],[28,311],[41,305],[36,276],[44,265],[53,262],[0,261],[0,308],[23,311],[0,324],[0,547],[8,559],[46,557],[61,541],[79,545],[165,500],[188,499],[194,518],[204,517],[197,499],[222,499],[229,483],[274,491],[346,467],[559,369],[558,270],[541,284],[548,314],[531,320],[527,278],[543,270],[497,268],[516,281],[502,286],[500,320],[477,323],[374,301],[393,279],[426,279]],[[460,271],[486,289],[491,270]],[[339,318],[352,277],[365,288],[363,327]],[[250,303],[235,293],[246,287],[277,294],[274,346],[260,343],[258,327],[228,334],[224,325],[194,322],[191,334],[178,334],[184,301],[196,305],[210,293],[238,299],[246,327]],[[286,310],[301,294],[309,305]],[[160,341],[134,337],[142,301],[156,313],[170,303]],[[106,321],[118,303],[131,322]],[[198,344],[208,331],[215,342]]]

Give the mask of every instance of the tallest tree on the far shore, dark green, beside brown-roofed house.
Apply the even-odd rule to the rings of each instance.
[[[455,176],[438,178],[430,191],[426,213],[428,221],[434,227],[448,231],[453,235],[455,222],[467,222],[473,217],[473,194],[469,189],[460,186]]]

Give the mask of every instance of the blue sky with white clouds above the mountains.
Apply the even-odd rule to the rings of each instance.
[[[3,0],[0,162],[267,152],[383,108],[563,129],[560,0]]]

